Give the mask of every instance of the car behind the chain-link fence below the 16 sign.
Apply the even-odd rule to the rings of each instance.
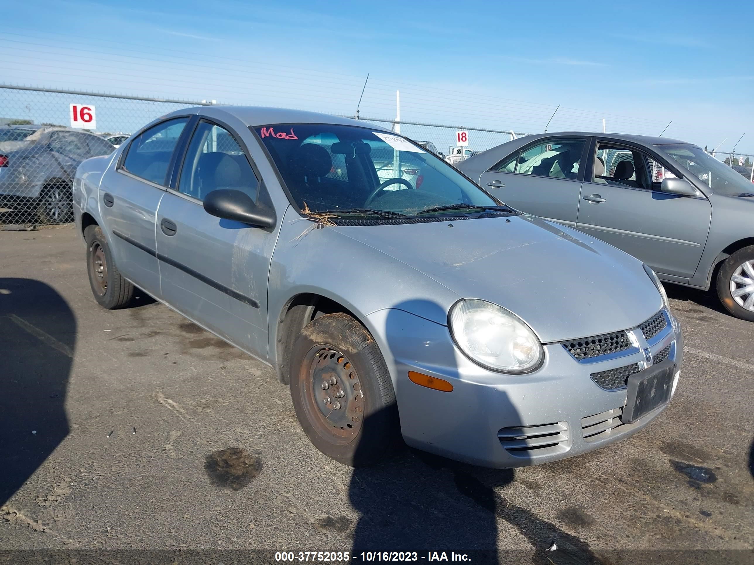
[[[65,127],[0,127],[0,207],[20,223],[72,221],[72,184],[76,167],[115,147]]]

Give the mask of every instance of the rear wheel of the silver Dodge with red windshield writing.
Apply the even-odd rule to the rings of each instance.
[[[98,225],[84,230],[87,242],[87,273],[94,300],[107,310],[127,306],[133,298],[133,285],[121,276]]]

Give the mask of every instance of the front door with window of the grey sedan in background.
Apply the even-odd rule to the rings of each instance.
[[[596,139],[590,151],[577,228],[657,273],[694,276],[710,231],[710,201],[661,192],[657,171],[682,173],[651,148]]]

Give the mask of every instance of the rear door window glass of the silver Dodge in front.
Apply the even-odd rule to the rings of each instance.
[[[136,136],[128,147],[123,168],[158,185],[165,184],[167,167],[189,118],[175,118],[152,126]]]

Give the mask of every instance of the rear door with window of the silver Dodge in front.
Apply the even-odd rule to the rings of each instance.
[[[136,136],[100,184],[100,213],[114,237],[115,262],[140,289],[161,296],[155,216],[173,153],[189,118],[172,118]]]

